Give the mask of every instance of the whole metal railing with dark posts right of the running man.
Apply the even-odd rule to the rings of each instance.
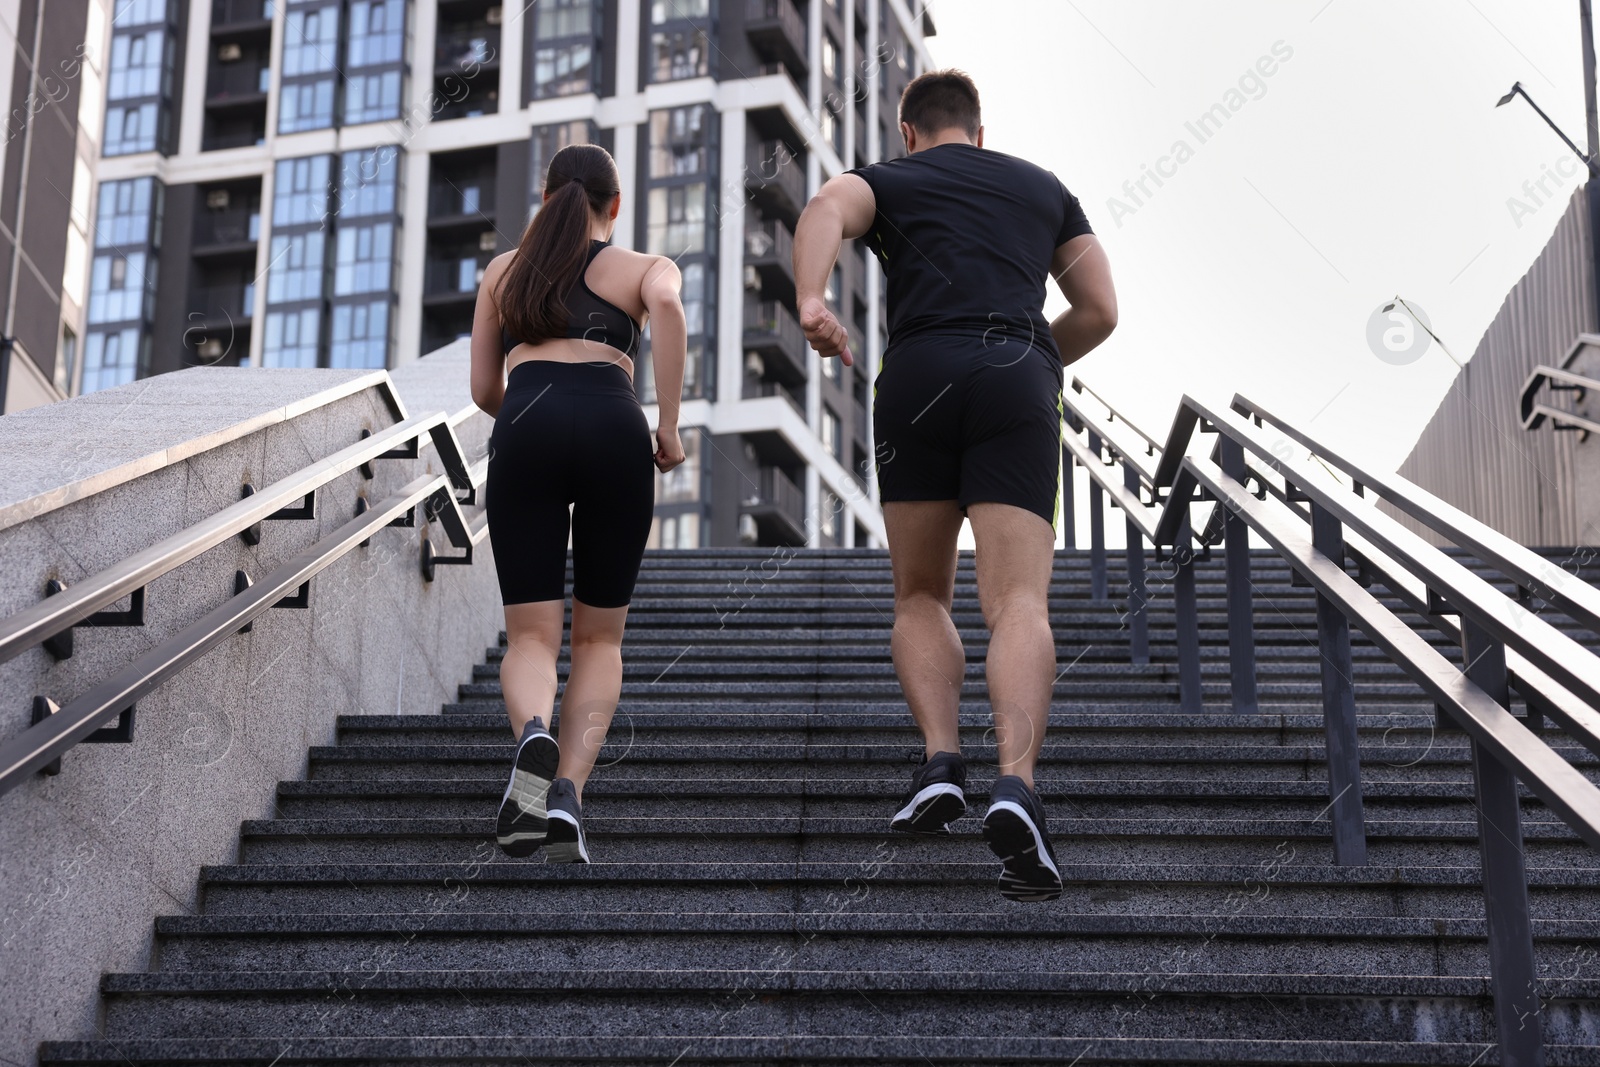
[[[1096,397],[1098,400],[1102,400]],[[1102,400],[1104,402],[1104,400]],[[1109,427],[1101,419],[1075,410],[1074,434],[1064,437],[1064,461],[1080,462],[1090,472],[1091,504],[1110,493],[1128,509],[1130,528],[1130,614],[1138,584],[1142,582],[1142,539],[1173,545],[1174,603],[1178,608],[1179,691],[1186,710],[1198,710],[1198,613],[1194,600],[1194,553],[1190,506],[1195,493],[1218,502],[1227,541],[1229,665],[1235,709],[1254,709],[1254,635],[1248,536],[1254,531],[1317,590],[1317,633],[1322,651],[1323,721],[1326,729],[1328,779],[1333,800],[1333,849],[1339,864],[1366,862],[1366,835],[1362,811],[1360,750],[1355,729],[1355,697],[1349,627],[1360,627],[1390,661],[1400,665],[1427,693],[1442,715],[1459,725],[1472,744],[1478,845],[1483,854],[1483,889],[1488,913],[1490,969],[1501,1064],[1542,1064],[1542,1024],[1538,1003],[1538,969],[1533,953],[1533,926],[1528,917],[1526,867],[1522,853],[1520,801],[1517,782],[1542,800],[1592,848],[1600,849],[1600,787],[1595,787],[1558,752],[1510,710],[1510,685],[1530,697],[1530,725],[1534,699],[1578,741],[1592,750],[1600,745],[1600,657],[1504,597],[1461,561],[1429,545],[1379,512],[1357,493],[1371,486],[1384,499],[1416,515],[1435,530],[1451,530],[1458,542],[1475,549],[1512,573],[1544,574],[1534,557],[1512,545],[1498,533],[1450,509],[1398,477],[1376,477],[1336,456],[1325,445],[1243,398],[1253,418],[1272,421],[1317,453],[1320,461],[1341,467],[1354,485],[1342,485],[1326,467],[1282,454],[1264,434],[1232,410],[1214,410],[1184,397],[1173,419],[1166,443],[1155,462],[1150,485],[1155,506],[1138,499],[1142,475],[1126,456],[1114,470],[1102,462],[1099,442]],[[1109,405],[1107,405],[1107,410]],[[1218,434],[1210,459],[1190,456],[1195,430]],[[1077,432],[1086,432],[1085,446]],[[1112,450],[1114,462],[1117,450]],[[1070,470],[1070,467],[1069,467]],[[1118,485],[1118,474],[1122,485]],[[1256,478],[1262,498],[1248,490]],[[1282,480],[1282,486],[1277,485]],[[1166,490],[1162,499],[1162,490]],[[1120,494],[1120,496],[1118,496]],[[1392,498],[1389,496],[1392,494]],[[1403,504],[1402,504],[1403,498]],[[1066,498],[1069,499],[1069,498]],[[1134,504],[1136,509],[1128,506]],[[1093,522],[1101,522],[1094,509]],[[1306,526],[1310,526],[1309,536]],[[1099,569],[1096,595],[1104,597],[1104,536],[1094,531],[1091,571]],[[1152,536],[1154,534],[1154,536]],[[1354,557],[1363,579],[1376,577],[1403,603],[1418,609],[1440,632],[1462,645],[1462,667],[1450,662],[1422,635],[1384,606],[1362,582],[1346,573]],[[1554,585],[1554,584],[1552,584]],[[1584,617],[1592,606],[1590,592],[1560,582],[1552,593]],[[1557,603],[1552,600],[1552,603]],[[1458,621],[1446,617],[1456,616]],[[1130,638],[1138,662],[1139,632]]]

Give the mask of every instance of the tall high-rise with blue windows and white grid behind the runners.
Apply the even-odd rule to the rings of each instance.
[[[190,365],[394,366],[470,331],[560,147],[618,160],[614,242],[683,272],[688,461],[653,544],[882,544],[882,274],[795,318],[794,226],[904,152],[922,0],[117,0],[82,389]],[[648,338],[637,368],[654,400]]]

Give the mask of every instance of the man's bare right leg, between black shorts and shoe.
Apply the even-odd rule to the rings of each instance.
[[[1056,531],[1010,504],[973,504],[966,517],[978,542],[978,600],[989,624],[986,672],[1000,774],[1016,774],[1032,789],[1056,678],[1050,632]]]

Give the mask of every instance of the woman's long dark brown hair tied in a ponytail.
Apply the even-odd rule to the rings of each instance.
[[[570,144],[550,157],[544,206],[501,277],[501,326],[512,338],[539,344],[565,336],[563,298],[589,253],[589,227],[619,189],[616,162],[597,144]]]

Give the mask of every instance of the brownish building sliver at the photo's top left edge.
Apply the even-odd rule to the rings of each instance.
[[[0,411],[80,389],[110,0],[0,0]]]

